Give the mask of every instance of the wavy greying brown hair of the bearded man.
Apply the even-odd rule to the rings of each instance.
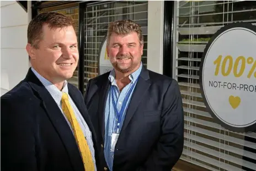
[[[128,35],[132,32],[136,32],[138,39],[140,40],[140,45],[143,45],[143,36],[141,31],[141,26],[134,23],[132,20],[118,20],[110,23],[108,28],[108,36],[106,38],[107,45],[109,45],[109,40],[111,34],[115,33],[117,35]]]

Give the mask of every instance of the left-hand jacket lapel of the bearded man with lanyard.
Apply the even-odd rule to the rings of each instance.
[[[102,139],[105,141],[105,107],[110,89],[110,81],[108,77],[104,80],[106,81],[101,84],[101,89],[99,91],[99,125],[102,126]]]

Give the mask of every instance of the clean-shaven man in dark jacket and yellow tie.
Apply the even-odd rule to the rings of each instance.
[[[68,16],[42,13],[29,23],[31,68],[1,97],[1,170],[97,170],[82,93],[66,81],[77,67],[77,44]]]

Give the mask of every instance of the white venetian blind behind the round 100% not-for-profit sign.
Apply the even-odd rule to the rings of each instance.
[[[174,8],[174,73],[185,119],[181,159],[209,170],[256,170],[256,133],[235,133],[217,124],[199,86],[202,52],[211,36],[236,21],[255,24],[256,2],[176,1]]]

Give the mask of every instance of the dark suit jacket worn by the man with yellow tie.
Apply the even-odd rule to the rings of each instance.
[[[92,131],[98,162],[96,136],[82,93],[71,84],[68,93]],[[84,171],[68,123],[31,69],[1,97],[1,170]]]

